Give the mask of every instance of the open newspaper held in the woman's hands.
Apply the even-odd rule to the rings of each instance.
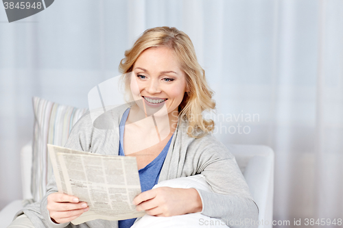
[[[132,203],[141,193],[135,157],[99,155],[47,144],[58,192],[73,195],[88,204],[89,210],[71,221],[123,220],[137,218]]]

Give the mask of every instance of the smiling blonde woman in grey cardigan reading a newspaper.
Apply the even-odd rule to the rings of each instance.
[[[202,118],[202,111],[214,109],[215,103],[189,37],[174,27],[147,29],[125,52],[119,69],[131,94],[130,107],[110,110],[94,123],[90,115],[83,116],[65,147],[136,157],[142,188],[134,198],[137,210],[152,216],[201,212],[230,227],[253,227],[241,223],[257,220],[258,208],[235,157],[211,135],[213,121]],[[154,125],[147,124],[152,123],[148,118]],[[120,130],[100,129],[98,122],[115,123]],[[152,189],[158,182],[200,173],[213,192]],[[58,193],[54,178],[47,189],[40,210],[37,205],[23,210],[39,223],[35,227],[73,227],[69,222],[88,210],[76,197]],[[138,220],[93,220],[78,227],[130,227]]]

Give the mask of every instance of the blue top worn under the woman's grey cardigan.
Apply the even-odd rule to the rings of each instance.
[[[119,124],[119,155],[121,156],[125,156],[122,145],[123,145],[124,127],[125,127],[125,123],[128,118],[129,112],[130,112],[130,107],[124,112],[123,117],[121,118],[121,121]],[[163,148],[161,153],[154,160],[152,160],[152,162],[147,164],[147,166],[145,166],[144,168],[141,168],[140,170],[138,170],[139,180],[141,181],[142,192],[152,189],[152,187],[154,187],[154,185],[158,183],[158,178],[160,177],[163,162],[165,162],[165,157],[167,156],[170,142],[173,136],[171,136],[171,138],[165,145],[165,148]],[[119,228],[131,227],[134,223],[134,220],[136,220],[136,218],[119,220],[118,221]]]

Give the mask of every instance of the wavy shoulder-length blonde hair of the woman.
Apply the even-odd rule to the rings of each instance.
[[[187,134],[193,138],[201,138],[213,132],[214,121],[205,120],[204,110],[214,110],[213,91],[209,88],[202,69],[196,58],[193,43],[187,34],[175,27],[154,27],[147,29],[134,42],[131,49],[125,51],[125,58],[119,64],[119,72],[123,73],[126,90],[130,90],[130,77],[134,63],[145,49],[150,47],[169,47],[180,62],[180,68],[186,75],[187,88],[183,100],[178,106],[179,118],[187,121]],[[200,134],[198,131],[202,131]],[[197,133],[197,134],[196,134]]]

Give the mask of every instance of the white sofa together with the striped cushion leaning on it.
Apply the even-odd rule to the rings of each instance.
[[[33,141],[21,149],[23,199],[12,201],[0,211],[0,228],[7,227],[25,203],[43,197],[46,181],[51,175],[51,166],[45,162],[49,160],[46,144],[63,146],[73,124],[86,112],[86,109],[60,105],[38,97],[33,98],[33,104]],[[274,151],[264,145],[226,144],[226,147],[235,155],[252,197],[259,206],[259,228],[272,227]]]

